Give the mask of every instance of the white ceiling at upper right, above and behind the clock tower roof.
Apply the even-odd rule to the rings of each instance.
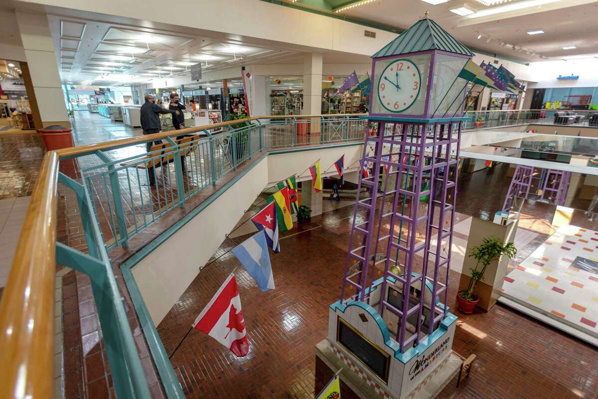
[[[476,8],[479,14],[460,17],[449,11],[463,2]],[[540,3],[544,4],[538,5]],[[508,11],[516,5],[522,8]],[[526,5],[530,7],[524,7]],[[482,16],[487,10],[502,12]],[[598,54],[598,1],[593,0],[513,0],[491,7],[477,0],[451,0],[438,5],[422,0],[376,0],[340,14],[402,30],[421,19],[425,11],[468,47],[514,60],[537,62],[540,55],[562,59]],[[528,35],[530,29],[541,29],[545,33]],[[483,37],[478,39],[478,35]],[[501,46],[501,42],[504,45]],[[568,45],[577,48],[563,50],[562,47]],[[526,50],[530,50],[530,54]]]

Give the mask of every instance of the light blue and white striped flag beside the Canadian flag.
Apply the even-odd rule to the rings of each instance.
[[[266,245],[266,233],[262,231],[249,237],[234,247],[232,252],[257,282],[260,290],[274,290],[274,276]]]

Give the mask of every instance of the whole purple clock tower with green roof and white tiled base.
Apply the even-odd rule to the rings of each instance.
[[[448,284],[459,75],[472,55],[426,15],[372,57],[362,154],[371,173],[357,190],[368,197],[356,197],[340,299],[316,350],[316,377],[318,364],[342,367],[347,386],[370,387],[358,397],[433,397],[460,367]]]

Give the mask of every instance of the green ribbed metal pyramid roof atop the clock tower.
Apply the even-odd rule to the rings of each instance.
[[[425,50],[443,50],[466,56],[474,55],[469,48],[461,44],[449,32],[440,28],[440,25],[431,19],[424,18],[417,21],[407,31],[401,33],[398,38],[385,45],[372,58]]]

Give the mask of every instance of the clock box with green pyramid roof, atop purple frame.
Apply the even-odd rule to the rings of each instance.
[[[370,115],[461,116],[466,82],[457,76],[473,55],[433,20],[419,20],[372,56]]]

